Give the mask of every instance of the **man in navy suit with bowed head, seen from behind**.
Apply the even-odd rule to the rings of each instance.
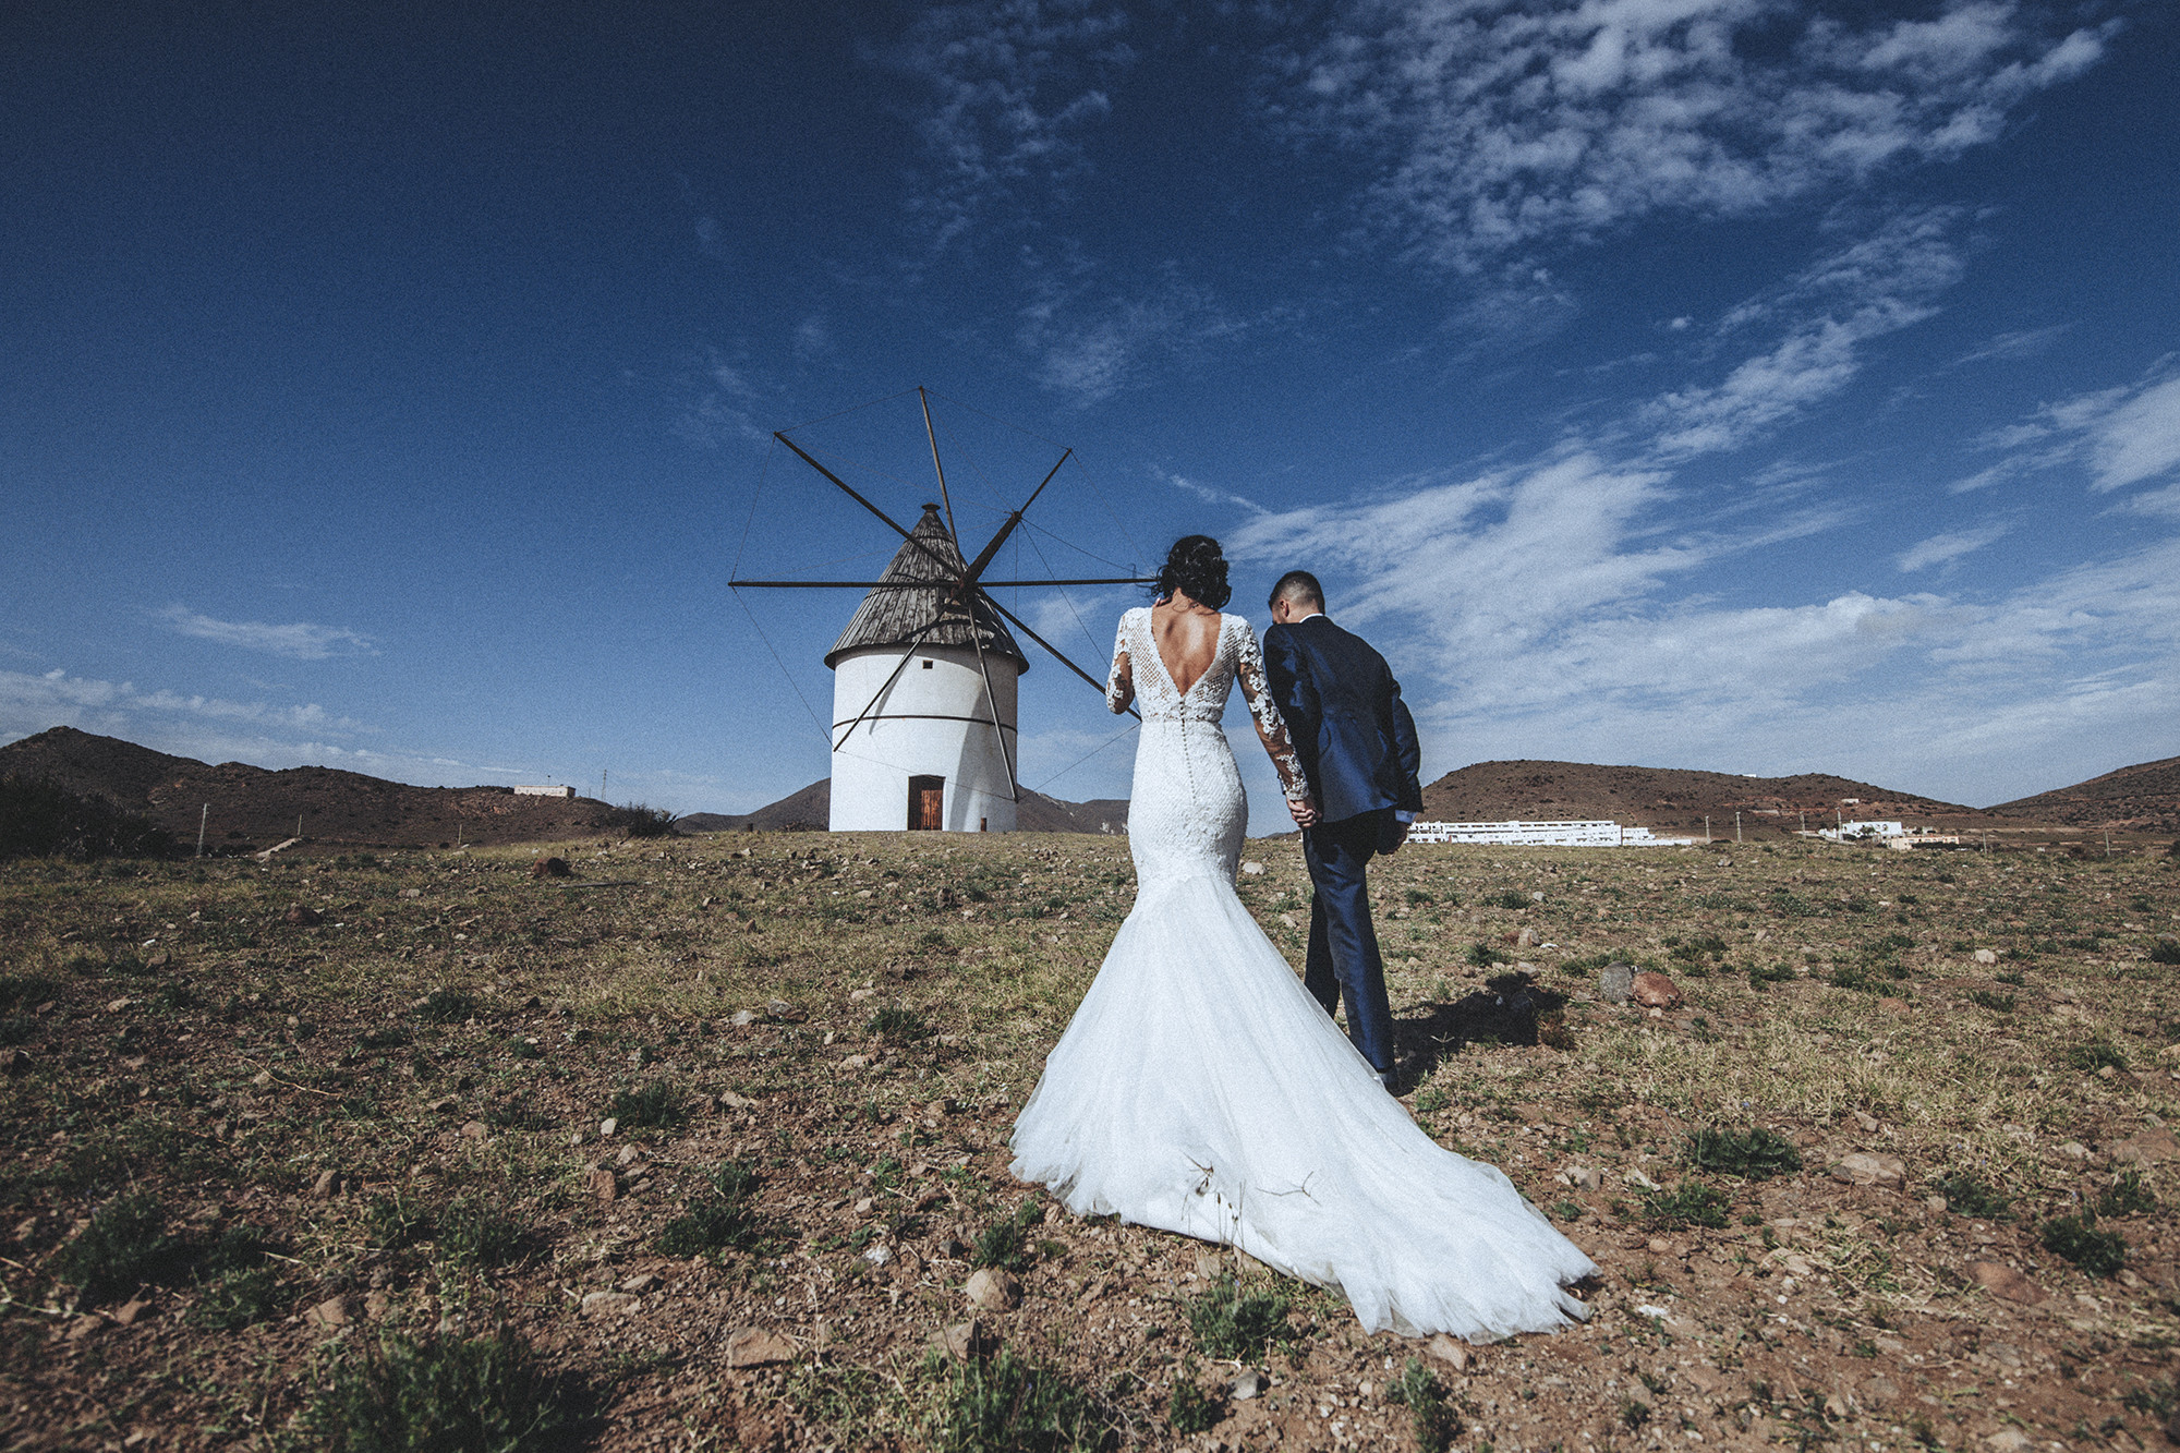
[[[1304,986],[1334,1012],[1347,1001],[1347,1038],[1397,1093],[1393,1008],[1369,916],[1369,860],[1395,853],[1424,809],[1415,718],[1400,700],[1384,657],[1325,617],[1317,576],[1291,569],[1271,587],[1273,626],[1264,672],[1301,768],[1317,790],[1319,818],[1301,831],[1317,899]]]

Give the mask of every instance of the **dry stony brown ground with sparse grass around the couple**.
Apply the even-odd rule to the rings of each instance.
[[[1299,849],[1247,857],[1299,969]],[[310,1446],[371,1348],[506,1329],[595,1449],[1068,1446],[1007,1440],[1020,1396],[964,1442],[955,1329],[1042,1368],[1086,1446],[2163,1446],[2176,862],[1380,862],[1404,1104],[1602,1268],[1585,1324],[1476,1348],[1362,1335],[1336,1294],[1007,1174],[1131,903],[1125,840],[4,864],[0,1431]],[[1683,1001],[1604,999],[1615,960]],[[98,1261],[116,1204],[161,1254]],[[1005,1224],[1020,1300],[985,1276],[972,1307]],[[1227,1276],[1286,1300],[1238,1357],[1203,1346]],[[1432,1429],[1391,1401],[1410,1361]]]

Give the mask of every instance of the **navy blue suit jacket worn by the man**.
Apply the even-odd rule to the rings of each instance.
[[[1323,615],[1264,631],[1264,674],[1325,822],[1424,809],[1415,718],[1369,641]]]

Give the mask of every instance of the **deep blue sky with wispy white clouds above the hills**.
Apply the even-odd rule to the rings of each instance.
[[[2149,0],[33,0],[0,740],[772,801],[852,598],[726,583],[892,545],[770,434],[907,524],[927,384],[972,550],[1075,449],[1007,578],[1312,567],[1426,777],[2173,755],[2176,72]],[[1007,598],[1092,672],[1131,602]],[[1022,779],[1114,733],[1040,657]]]

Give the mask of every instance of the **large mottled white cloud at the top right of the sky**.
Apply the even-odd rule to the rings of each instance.
[[[1840,7],[1831,7],[1840,9]],[[2117,22],[1955,0],[1846,20],[1766,0],[1345,0],[1271,52],[1275,124],[1373,159],[1373,229],[1476,271],[1657,212],[1735,216],[1993,142]]]

